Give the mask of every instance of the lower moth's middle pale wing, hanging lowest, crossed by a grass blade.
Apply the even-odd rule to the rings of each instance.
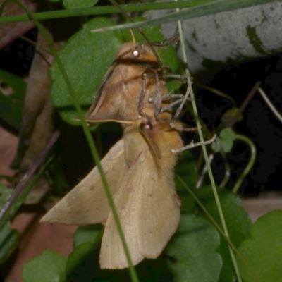
[[[140,161],[137,159],[135,164],[129,168],[128,174],[121,184],[121,189],[118,190],[114,198],[118,218],[121,222],[133,265],[144,259],[144,256],[139,252],[136,229],[136,206],[138,197],[140,197],[140,190],[137,185],[133,186],[133,183],[136,182],[136,176],[138,178],[140,173],[142,173],[142,171],[140,172]],[[99,263],[101,269],[123,269],[128,267],[112,212],[110,212],[109,218],[106,221]]]

